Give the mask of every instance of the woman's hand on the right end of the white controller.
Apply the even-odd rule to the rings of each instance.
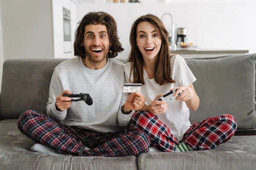
[[[177,96],[176,100],[186,102],[189,99],[192,99],[192,97],[194,96],[194,90],[186,85],[176,88],[178,88],[178,90],[175,92],[174,96],[177,96],[177,94],[179,94],[182,91],[182,94],[180,94],[180,96]],[[170,91],[173,91],[176,88],[172,88]]]

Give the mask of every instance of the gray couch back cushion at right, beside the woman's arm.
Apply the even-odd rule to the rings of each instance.
[[[200,98],[198,110],[190,111],[190,122],[231,114],[238,129],[256,128],[255,58],[256,54],[186,59]]]

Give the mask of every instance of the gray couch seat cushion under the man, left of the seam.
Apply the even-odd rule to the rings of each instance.
[[[68,157],[32,152],[35,144],[17,129],[17,120],[0,121],[0,170],[137,170],[137,157]]]

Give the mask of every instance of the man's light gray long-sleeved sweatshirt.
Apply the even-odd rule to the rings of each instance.
[[[124,64],[116,59],[108,59],[107,64],[99,70],[87,68],[81,57],[61,62],[52,74],[47,114],[67,126],[102,133],[121,131],[135,112],[128,115],[121,112],[121,106],[128,98],[128,94],[122,93],[124,83]],[[73,102],[65,111],[57,111],[56,97],[65,90],[73,94],[90,94],[93,105],[79,101]]]

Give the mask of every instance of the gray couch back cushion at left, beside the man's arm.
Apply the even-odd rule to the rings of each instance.
[[[66,59],[10,59],[3,64],[0,119],[17,119],[33,109],[47,114],[54,68]]]

